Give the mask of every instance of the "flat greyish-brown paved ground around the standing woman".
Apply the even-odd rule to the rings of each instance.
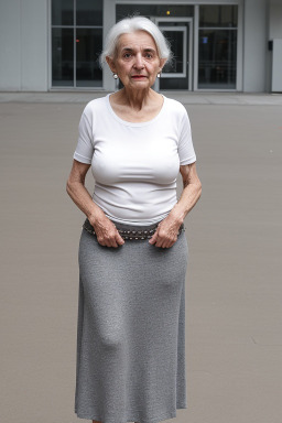
[[[93,97],[0,94],[1,423],[78,421],[84,216],[65,182]],[[174,421],[281,423],[282,97],[175,98],[187,105],[203,196],[186,218],[188,409]]]

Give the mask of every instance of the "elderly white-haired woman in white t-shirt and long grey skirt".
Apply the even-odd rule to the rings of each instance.
[[[187,406],[183,221],[202,187],[184,106],[151,88],[170,54],[145,18],[111,29],[101,61],[123,88],[85,107],[67,181],[86,215],[75,412],[94,423],[153,423]]]

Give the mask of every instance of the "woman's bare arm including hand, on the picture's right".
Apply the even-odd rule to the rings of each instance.
[[[178,202],[165,219],[161,221],[150,243],[155,247],[170,248],[177,240],[178,229],[189,210],[200,197],[202,184],[196,171],[196,162],[180,167],[183,191]]]

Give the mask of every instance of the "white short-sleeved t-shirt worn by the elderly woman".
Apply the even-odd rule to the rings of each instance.
[[[93,199],[110,219],[132,225],[162,220],[176,204],[180,164],[196,161],[184,106],[165,96],[147,122],[128,122],[109,96],[89,101],[79,122],[74,159],[91,164]]]

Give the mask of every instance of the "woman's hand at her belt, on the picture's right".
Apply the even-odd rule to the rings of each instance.
[[[161,248],[172,247],[177,240],[181,224],[182,221],[178,221],[172,214],[167,215],[166,218],[159,224],[156,231],[149,242]]]

